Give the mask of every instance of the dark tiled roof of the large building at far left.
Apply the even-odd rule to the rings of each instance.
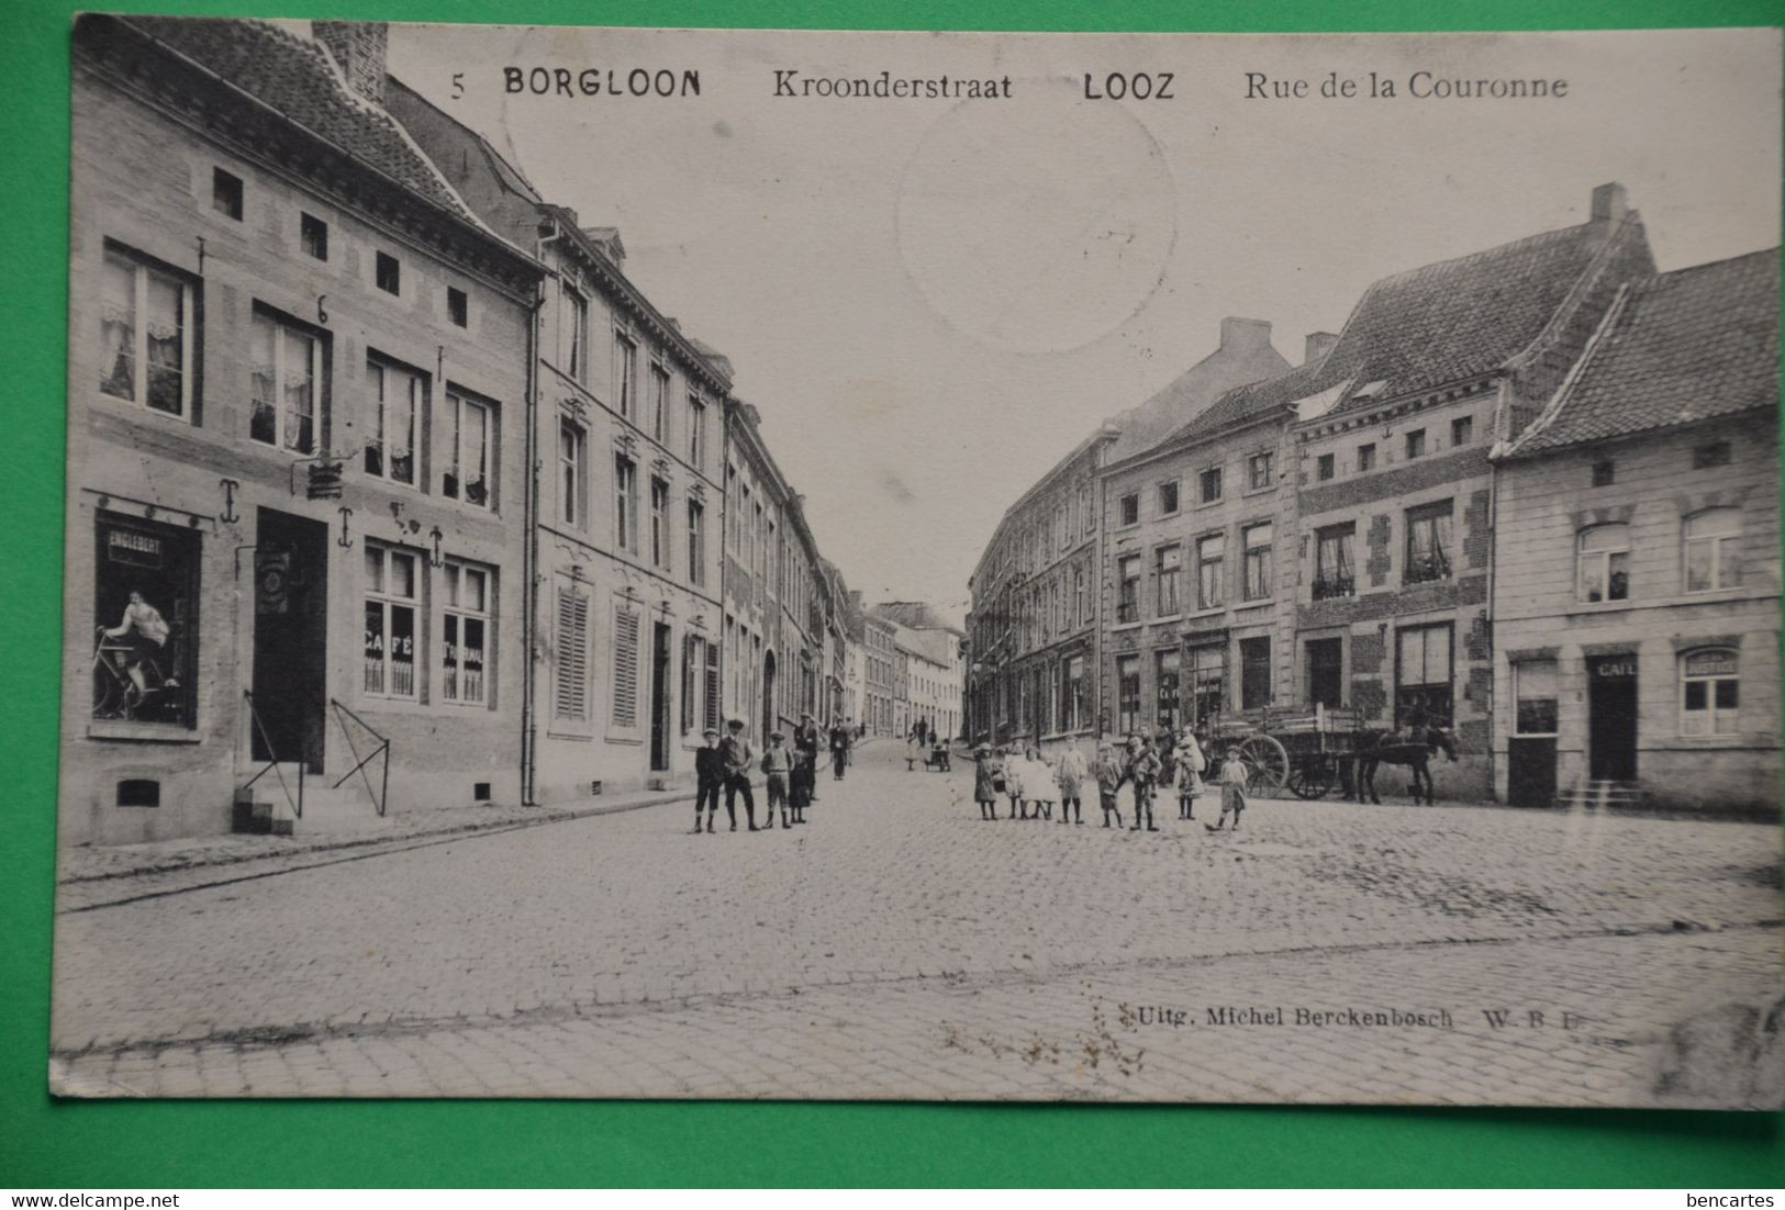
[[[475,221],[391,116],[346,87],[320,43],[264,21],[186,16],[120,20],[428,202]]]

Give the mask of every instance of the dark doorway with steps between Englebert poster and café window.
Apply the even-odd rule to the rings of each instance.
[[[261,509],[253,548],[255,760],[323,771],[328,710],[328,526]]]

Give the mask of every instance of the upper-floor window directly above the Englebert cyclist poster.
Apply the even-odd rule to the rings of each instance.
[[[100,391],[168,416],[193,414],[195,286],[105,244]]]

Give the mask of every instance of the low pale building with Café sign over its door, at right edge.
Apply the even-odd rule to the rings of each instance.
[[[1498,796],[1778,810],[1780,253],[1619,289],[1494,455]]]

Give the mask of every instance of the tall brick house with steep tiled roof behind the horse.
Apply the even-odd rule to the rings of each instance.
[[[1448,794],[1492,787],[1489,450],[1653,271],[1623,186],[1601,186],[1585,223],[1382,278],[1296,384],[1294,700],[1453,725]]]

